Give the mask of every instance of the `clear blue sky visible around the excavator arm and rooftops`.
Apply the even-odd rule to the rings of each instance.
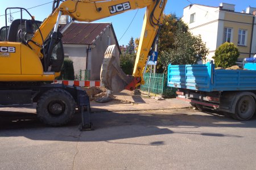
[[[51,2],[51,0],[11,0],[11,1],[1,1],[0,6],[0,15],[5,14],[6,7],[24,7],[24,8],[30,8],[38,5],[42,5],[44,3]],[[185,6],[188,6],[190,3],[197,3],[201,5],[208,5],[208,6],[218,6],[221,2],[224,3],[232,3],[236,5],[236,11],[240,12],[242,10],[245,10],[246,7],[256,7],[256,0],[169,0],[167,2],[166,8],[164,12],[166,14],[175,13],[177,16],[183,15],[183,8]],[[35,16],[36,20],[43,20],[46,18],[50,13],[52,9],[52,3],[48,3],[47,5],[39,6],[36,8],[32,8],[30,13]],[[15,10],[13,10],[14,12]],[[98,20],[97,22],[112,22],[115,30],[115,34],[117,35],[117,39],[119,40],[123,33],[125,32],[126,28],[129,26],[131,20],[133,19],[135,13],[137,10],[134,11],[128,11],[120,15],[112,16],[110,18],[105,18]],[[145,9],[142,8],[138,11],[137,15],[135,16],[135,19],[133,23],[131,24],[128,31],[125,33],[125,35],[122,37],[121,40],[119,40],[119,45],[127,45],[131,37],[139,37],[141,35],[141,28],[142,28],[142,22],[143,22],[143,15],[144,15]],[[19,13],[13,14],[14,19],[19,18]],[[9,17],[8,17],[9,18]],[[24,18],[29,18],[28,16],[24,16]],[[5,16],[0,16],[0,27],[5,25]]]

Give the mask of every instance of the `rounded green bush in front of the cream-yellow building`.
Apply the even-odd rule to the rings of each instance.
[[[232,42],[225,42],[218,47],[213,59],[216,67],[227,68],[236,65],[239,56],[240,53],[237,46]]]

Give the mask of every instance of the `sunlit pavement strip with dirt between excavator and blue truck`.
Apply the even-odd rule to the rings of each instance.
[[[147,96],[134,95],[134,92],[123,90],[114,92],[114,100],[108,103],[90,103],[92,112],[100,111],[140,111],[159,109],[180,109],[191,107],[191,104],[177,99],[156,100]]]

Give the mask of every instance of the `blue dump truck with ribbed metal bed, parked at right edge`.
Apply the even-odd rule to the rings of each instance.
[[[255,113],[256,63],[243,70],[215,69],[213,62],[200,65],[169,65],[169,87],[176,87],[177,99],[200,110],[232,113],[237,120],[249,120]]]

